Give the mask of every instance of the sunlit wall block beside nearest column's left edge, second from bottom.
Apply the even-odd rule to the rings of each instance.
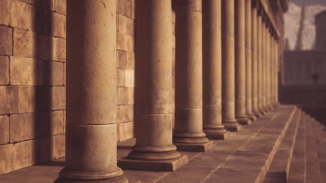
[[[53,111],[47,113],[49,121],[49,134],[63,134],[63,110]]]

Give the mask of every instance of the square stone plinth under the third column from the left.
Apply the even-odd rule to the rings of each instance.
[[[214,147],[214,141],[204,143],[173,143],[179,151],[206,152]]]

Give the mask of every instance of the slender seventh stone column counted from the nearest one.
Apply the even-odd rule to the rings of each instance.
[[[245,21],[245,26],[246,26],[246,34],[245,34],[245,47],[246,47],[246,113],[247,116],[251,121],[256,120],[256,116],[254,115],[254,112],[252,111],[252,103],[253,103],[253,89],[252,89],[252,83],[253,83],[253,60],[252,60],[252,41],[251,41],[251,1],[245,1],[245,6],[246,6],[246,21]]]

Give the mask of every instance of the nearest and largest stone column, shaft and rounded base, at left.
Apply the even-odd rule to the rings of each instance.
[[[116,165],[116,1],[67,1],[65,168],[56,182],[127,182]]]

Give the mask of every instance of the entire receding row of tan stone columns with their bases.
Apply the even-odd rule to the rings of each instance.
[[[175,171],[277,107],[278,36],[260,1],[137,0],[135,137],[122,168]],[[127,182],[116,158],[116,0],[67,1],[66,165],[56,182]],[[175,103],[175,129],[173,111]]]

